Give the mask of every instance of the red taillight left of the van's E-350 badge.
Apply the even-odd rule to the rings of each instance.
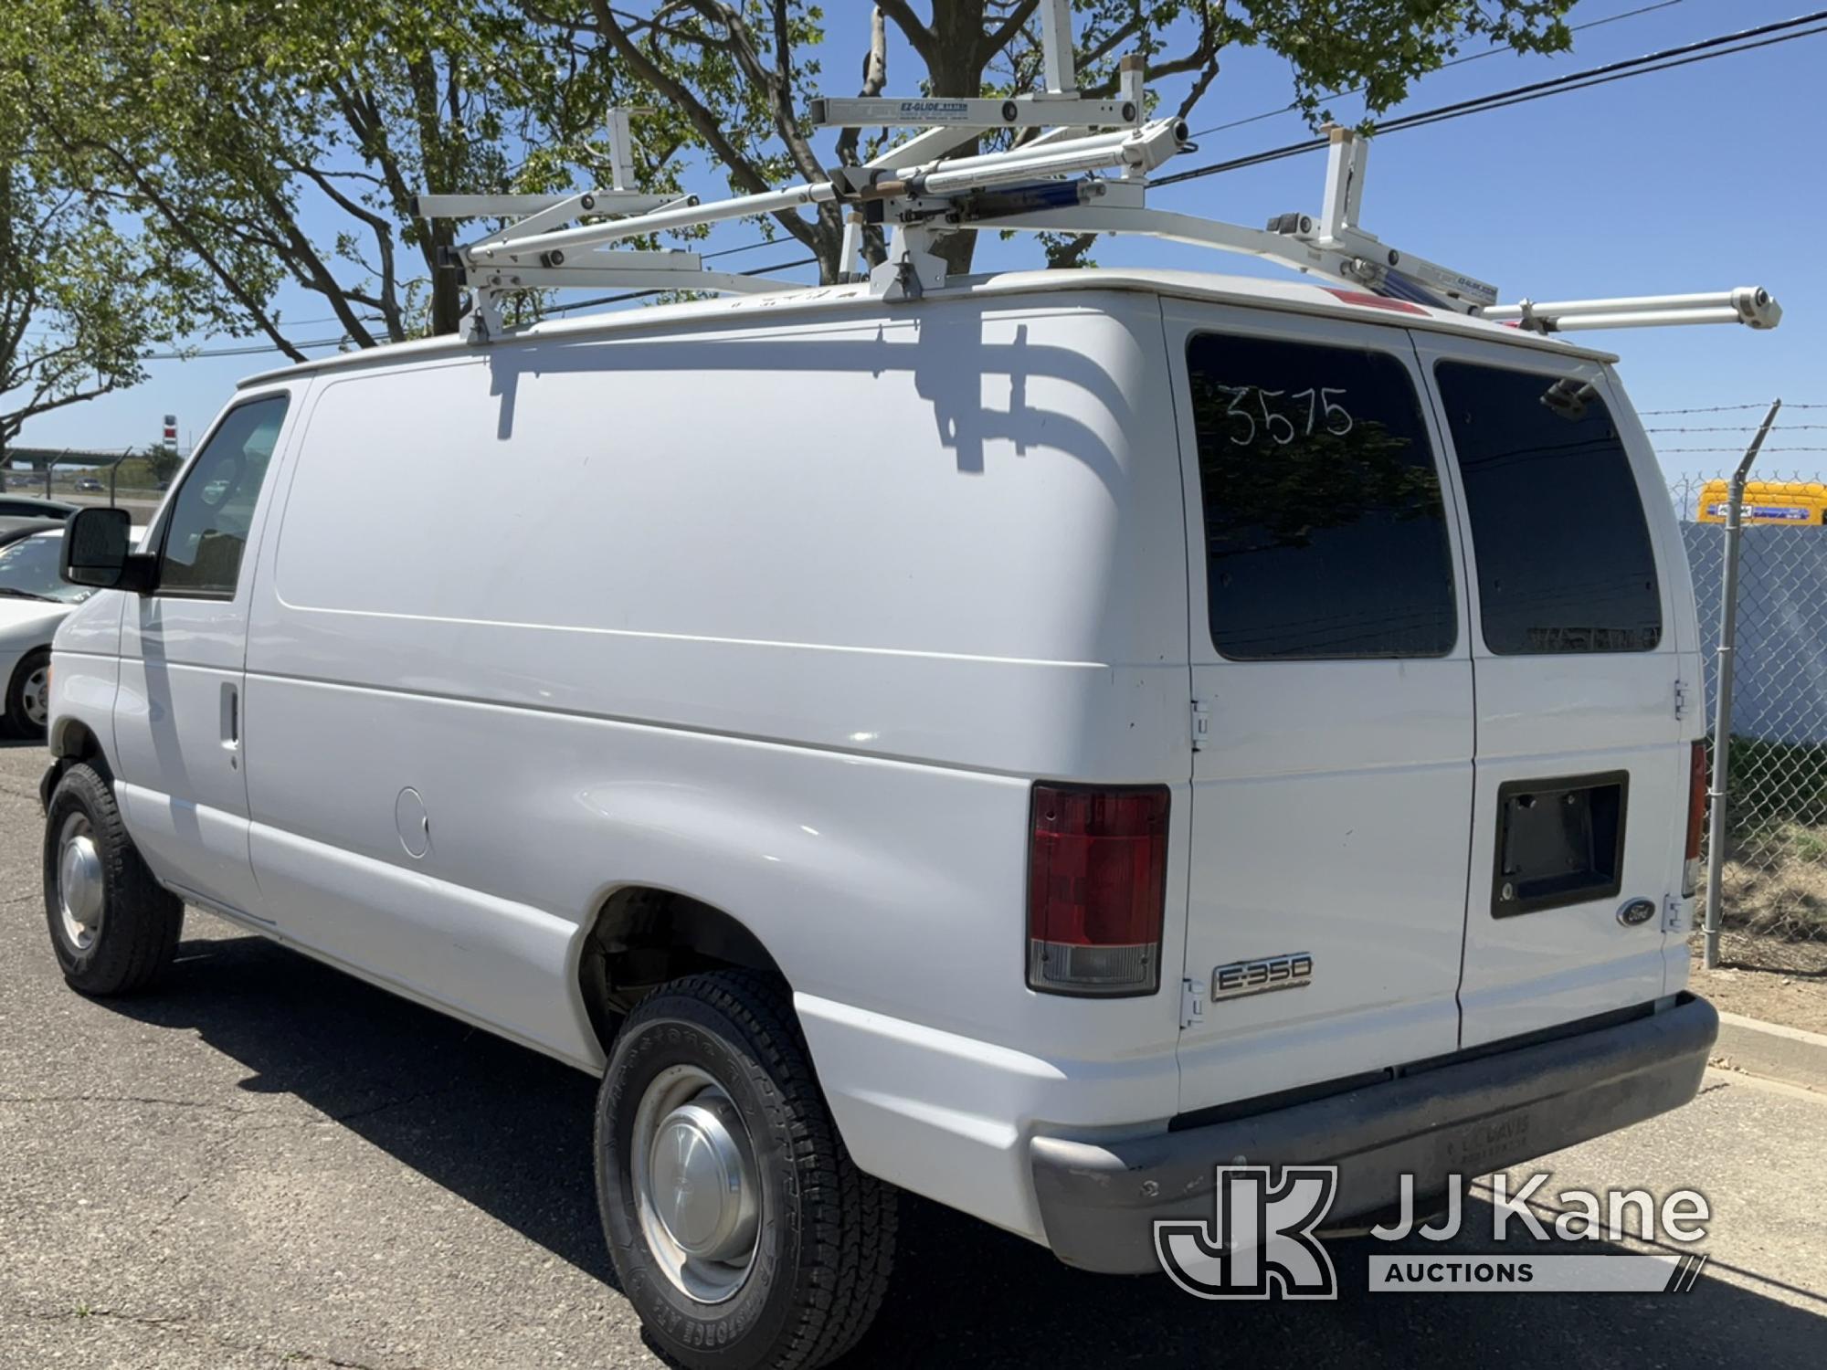
[[[1166,891],[1166,785],[1034,785],[1030,990],[1153,994]]]

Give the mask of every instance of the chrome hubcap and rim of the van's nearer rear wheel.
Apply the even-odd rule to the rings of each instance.
[[[647,1248],[680,1291],[723,1302],[749,1277],[760,1233],[742,1112],[705,1070],[672,1065],[647,1085],[628,1149]]]

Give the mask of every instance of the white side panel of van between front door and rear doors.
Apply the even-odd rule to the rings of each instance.
[[[1160,347],[1147,296],[950,298],[323,378],[248,641],[281,933],[599,1061],[581,933],[689,893],[786,970],[864,1169],[1038,1235],[1036,1125],[1177,1107],[1178,986],[1023,985],[1036,776],[1175,785],[1184,906]],[[884,1069],[921,1034],[981,1069]]]

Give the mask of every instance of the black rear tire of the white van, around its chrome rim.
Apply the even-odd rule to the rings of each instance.
[[[654,1078],[676,1065],[727,1094],[758,1176],[756,1248],[722,1302],[674,1282],[634,1202],[636,1112]],[[811,1370],[855,1346],[881,1308],[895,1191],[851,1164],[786,988],[771,977],[689,975],[628,1016],[597,1096],[596,1193],[623,1293],[660,1348],[692,1370]]]

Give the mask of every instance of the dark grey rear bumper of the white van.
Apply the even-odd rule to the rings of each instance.
[[[1449,1175],[1485,1175],[1677,1109],[1699,1091],[1719,1016],[1672,1008],[1272,1112],[1129,1142],[1041,1136],[1030,1145],[1047,1244],[1069,1266],[1160,1270],[1158,1218],[1213,1217],[1215,1167],[1337,1165],[1325,1226],[1390,1207]]]

